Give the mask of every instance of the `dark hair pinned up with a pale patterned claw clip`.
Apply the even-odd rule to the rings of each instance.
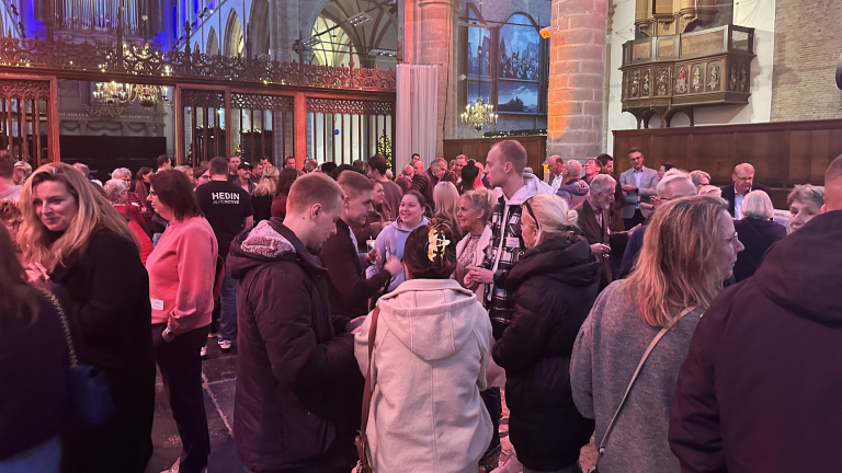
[[[441,245],[432,252],[431,233],[441,239]],[[433,219],[426,226],[412,230],[407,236],[403,264],[413,279],[447,279],[456,269],[456,243],[458,241],[453,223],[444,219]]]

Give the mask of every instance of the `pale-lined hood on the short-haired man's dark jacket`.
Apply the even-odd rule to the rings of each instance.
[[[231,277],[242,279],[252,268],[265,263],[291,261],[312,269],[321,269],[319,259],[304,246],[298,236],[281,219],[263,220],[251,230],[240,232],[228,253]]]

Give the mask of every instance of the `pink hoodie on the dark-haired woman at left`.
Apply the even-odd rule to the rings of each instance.
[[[153,324],[183,334],[210,323],[217,254],[204,217],[170,222],[146,262]]]

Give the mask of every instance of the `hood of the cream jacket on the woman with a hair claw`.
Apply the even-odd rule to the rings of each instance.
[[[419,358],[432,361],[458,351],[488,316],[474,292],[453,279],[410,279],[377,301],[378,323]]]

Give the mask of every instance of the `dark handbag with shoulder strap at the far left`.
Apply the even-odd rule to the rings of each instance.
[[[91,365],[79,364],[65,309],[53,292],[48,290],[43,292],[58,312],[61,326],[65,330],[67,350],[70,355],[68,382],[73,406],[86,423],[90,425],[102,424],[114,413],[114,401],[111,399],[105,374]]]

